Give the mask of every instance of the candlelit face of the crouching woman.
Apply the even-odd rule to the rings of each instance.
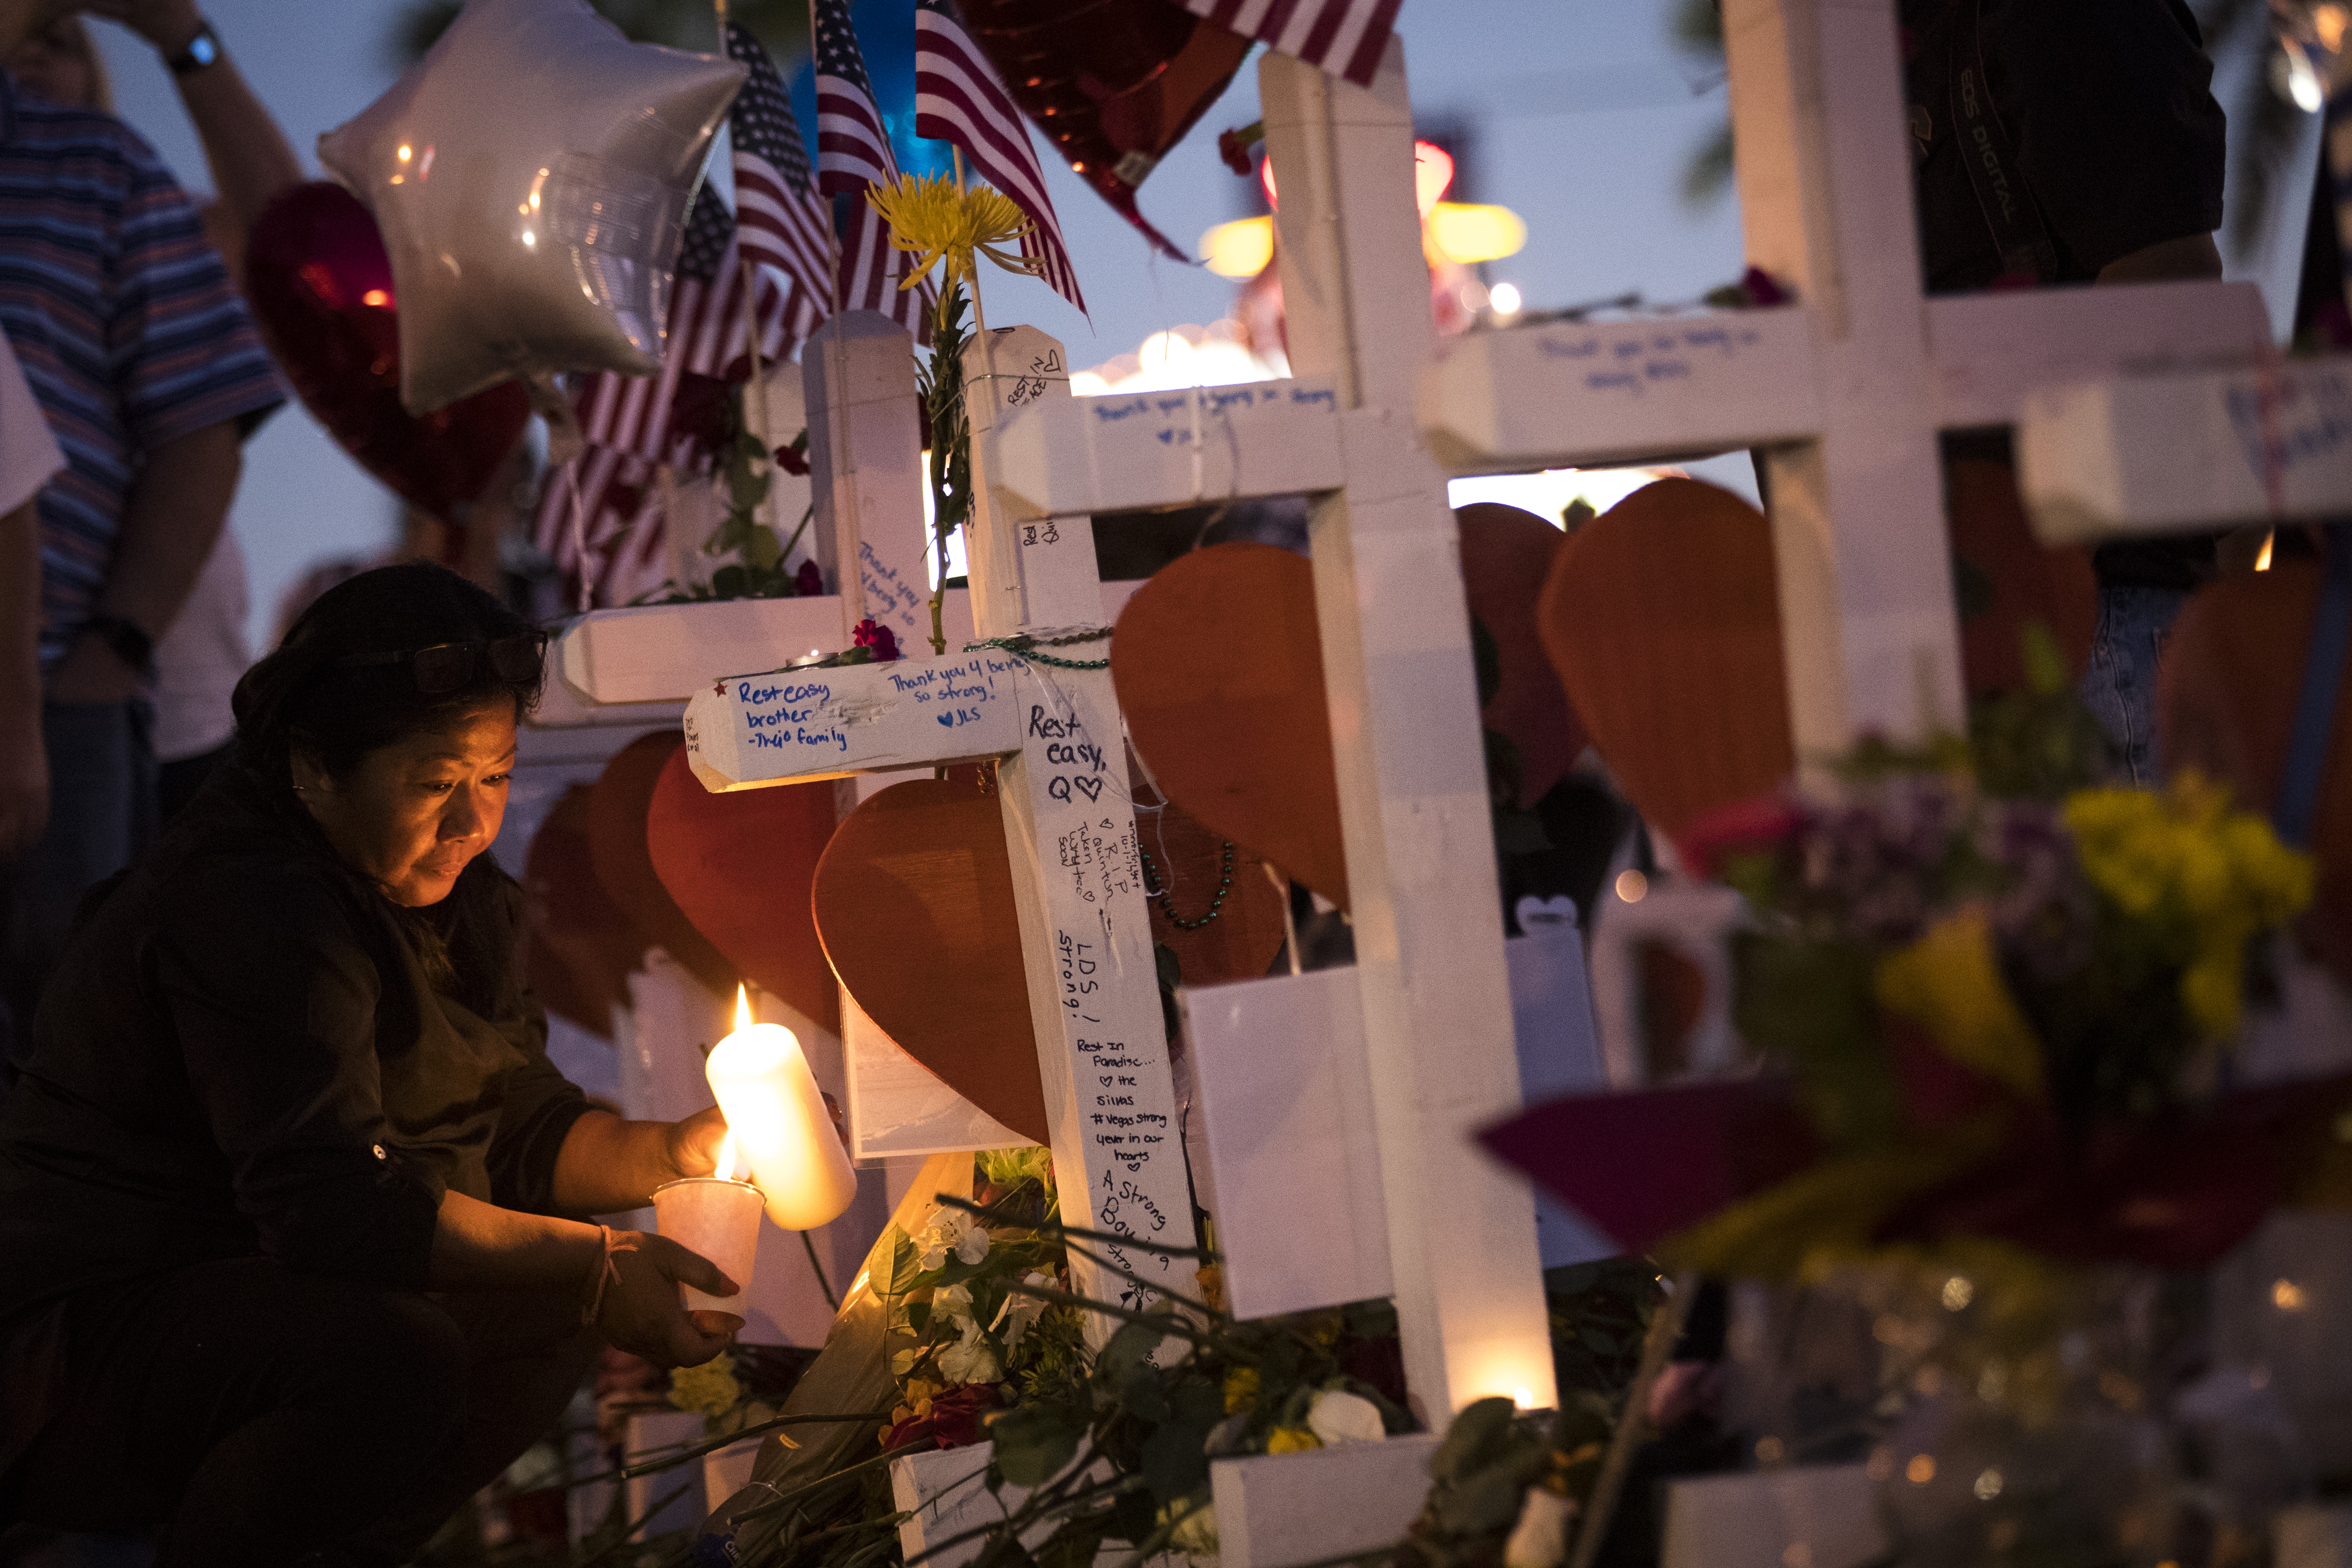
[[[499,837],[513,766],[515,708],[496,703],[367,752],[341,780],[296,755],[294,790],[336,853],[414,910]]]

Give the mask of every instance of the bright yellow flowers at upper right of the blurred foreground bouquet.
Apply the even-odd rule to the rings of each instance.
[[[2082,870],[2183,964],[2180,1001],[2206,1039],[2237,1030],[2246,943],[2312,903],[2312,860],[2230,811],[2197,776],[2169,790],[2079,790],[2065,802]]]

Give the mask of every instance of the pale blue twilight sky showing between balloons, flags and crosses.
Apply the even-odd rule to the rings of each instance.
[[[858,5],[868,9],[906,0]],[[315,172],[318,134],[360,113],[395,75],[388,52],[393,0],[212,0],[209,14],[254,89]],[[1470,195],[1517,209],[1526,249],[1486,268],[1515,282],[1529,308],[1566,306],[1639,289],[1682,301],[1740,273],[1738,205],[1684,205],[1689,148],[1722,120],[1724,92],[1668,40],[1670,0],[1406,0],[1399,31],[1423,122],[1468,122],[1475,146]],[[153,52],[92,21],[115,82],[118,110],[179,172],[207,190],[202,153]],[[868,42],[873,52],[875,45]],[[790,75],[795,61],[779,61]],[[880,75],[880,71],[877,71]],[[2232,103],[2223,87],[2223,103]],[[1141,207],[1171,240],[1244,209],[1244,186],[1216,158],[1216,132],[1256,120],[1256,68],[1244,66],[1143,186]],[[1040,146],[1044,146],[1040,141]],[[1204,268],[1152,259],[1077,176],[1047,155],[1054,202],[1091,306],[1091,324],[1044,284],[990,273],[988,320],[1035,322],[1061,336],[1084,369],[1134,353],[1152,331],[1207,324],[1225,313],[1232,284]],[[2300,181],[2298,181],[2300,186]],[[2307,190],[2307,186],[2300,186]],[[2298,207],[2300,212],[2300,207]],[[2298,235],[2272,244],[2260,277],[2274,308],[2293,287]],[[2281,261],[2284,256],[2284,261]],[[393,501],[301,409],[289,407],[247,447],[233,512],[252,562],[256,651],[278,595],[308,564],[381,548]]]

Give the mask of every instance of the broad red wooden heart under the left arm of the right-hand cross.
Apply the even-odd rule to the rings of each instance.
[[[1668,835],[1795,771],[1771,524],[1731,491],[1625,496],[1569,538],[1538,614],[1618,788]]]

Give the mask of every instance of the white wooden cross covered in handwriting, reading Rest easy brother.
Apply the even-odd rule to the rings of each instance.
[[[997,515],[985,484],[1002,411],[1068,402],[1068,367],[1061,343],[1014,327],[976,341],[964,376],[976,630],[997,642],[1075,642],[1042,644],[1035,658],[976,646],[713,679],[687,703],[689,759],[713,790],[997,759],[1054,1171],[1070,1220],[1190,1248],[1192,1201],[1094,534],[1084,520],[1016,527]],[[856,522],[844,517],[840,527],[849,559]],[[1073,1204],[1077,1194],[1087,1194],[1084,1206]],[[1192,1293],[1183,1258],[1120,1246],[1105,1253],[1129,1274]],[[1080,1291],[1101,1300],[1136,1307],[1152,1295],[1084,1260],[1073,1260],[1073,1272]],[[1115,1328],[1098,1319],[1089,1326]]]

